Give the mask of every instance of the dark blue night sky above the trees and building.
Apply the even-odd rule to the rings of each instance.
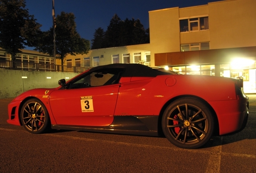
[[[93,39],[99,27],[107,30],[109,22],[118,14],[121,20],[140,19],[144,28],[149,28],[149,11],[172,7],[204,5],[219,0],[54,0],[55,14],[61,11],[74,13],[76,30],[82,38]],[[26,0],[29,14],[42,24],[41,30],[52,26],[52,0]]]

